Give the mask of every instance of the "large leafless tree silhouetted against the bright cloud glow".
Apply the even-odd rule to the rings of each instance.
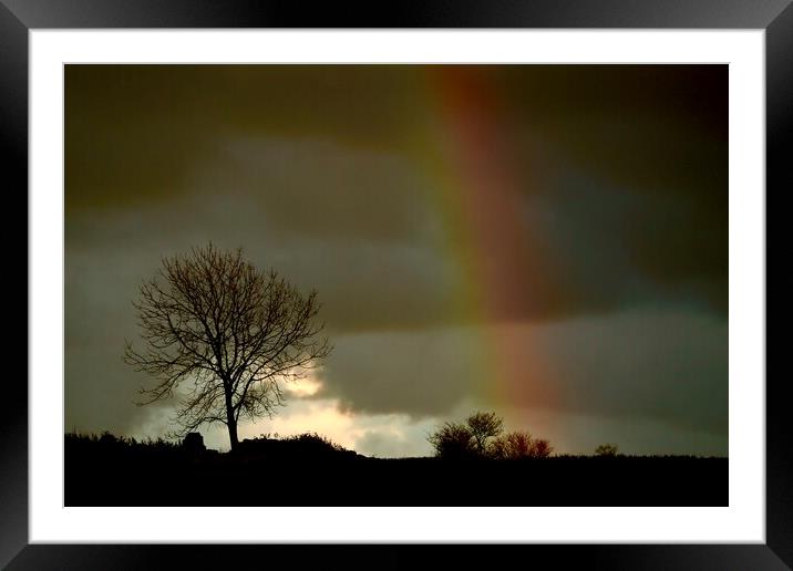
[[[258,271],[241,249],[212,243],[163,260],[133,302],[144,347],[126,343],[124,360],[157,378],[141,388],[151,404],[184,385],[182,434],[202,424],[228,427],[231,449],[240,417],[272,416],[284,383],[302,377],[330,353],[316,321],[317,292],[303,297],[277,272]]]

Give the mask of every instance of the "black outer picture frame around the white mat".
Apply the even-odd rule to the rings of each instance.
[[[763,29],[766,212],[773,211],[768,209],[770,196],[784,196],[793,188],[793,175],[787,165],[793,157],[791,0],[402,0],[388,3],[344,0],[310,4],[271,0],[0,0],[0,156],[6,163],[4,195],[9,201],[11,198],[23,201],[20,208],[25,212],[28,32],[59,28]],[[18,218],[21,219],[21,215]],[[10,228],[8,224],[3,226],[6,243],[14,245],[8,249],[19,250],[17,255],[21,258],[22,249],[16,246],[19,235],[14,233],[16,239],[11,241]],[[766,242],[770,243],[768,237]],[[20,260],[18,267],[21,263]],[[27,267],[27,258],[24,264]],[[768,280],[768,266],[765,273]],[[25,287],[30,286],[25,279]],[[768,299],[766,293],[766,304]],[[28,300],[30,303],[30,298]],[[779,311],[773,315],[775,321],[782,320]],[[768,335],[766,346],[770,346]],[[292,563],[299,562],[300,568],[320,562],[323,567],[363,564],[384,568],[405,567],[428,557],[423,552],[425,547],[393,544],[374,547],[375,553],[367,557],[360,556],[357,546],[29,544],[28,392],[27,385],[14,383],[9,372],[7,375],[3,399],[13,406],[7,405],[0,415],[0,565],[9,569],[158,569],[177,564],[177,568],[226,569],[245,564],[245,561],[278,564],[275,559],[285,557]],[[486,562],[487,567],[493,567],[494,557],[531,558],[532,561],[547,558],[554,561],[554,567],[563,569],[574,564],[609,569],[761,570],[793,567],[793,490],[790,485],[793,481],[793,455],[786,421],[786,381],[766,373],[765,383],[765,544],[500,546],[497,556],[492,549],[483,552],[475,546],[457,546],[455,558],[468,564]],[[262,550],[267,550],[265,559],[261,558]]]

